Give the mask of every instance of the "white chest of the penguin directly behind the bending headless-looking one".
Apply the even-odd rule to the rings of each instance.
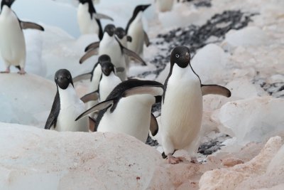
[[[119,83],[121,83],[121,80],[114,73],[111,73],[109,76],[102,75],[102,80],[99,83],[99,100],[101,102],[106,100],[109,93]]]

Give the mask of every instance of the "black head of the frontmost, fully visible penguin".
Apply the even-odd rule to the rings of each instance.
[[[186,46],[177,46],[170,54],[170,64],[178,64],[180,68],[186,68],[190,64],[190,49]]]

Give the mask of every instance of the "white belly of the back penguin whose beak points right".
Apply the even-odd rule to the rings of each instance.
[[[127,43],[127,48],[134,51],[139,56],[143,56],[143,43],[144,43],[144,31],[141,21],[133,21],[129,26],[129,31],[127,33],[131,36],[132,41]]]

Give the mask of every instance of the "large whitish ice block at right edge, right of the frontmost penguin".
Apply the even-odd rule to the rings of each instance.
[[[214,112],[219,130],[236,137],[241,144],[262,142],[275,134],[283,134],[284,100],[282,98],[252,97],[227,102]]]

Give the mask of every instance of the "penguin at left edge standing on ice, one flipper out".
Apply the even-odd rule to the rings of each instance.
[[[2,0],[0,12],[0,51],[6,65],[6,70],[1,73],[10,73],[13,65],[19,74],[26,73],[26,43],[23,29],[33,28],[44,31],[43,26],[36,23],[25,22],[18,19],[11,9],[14,0]]]

